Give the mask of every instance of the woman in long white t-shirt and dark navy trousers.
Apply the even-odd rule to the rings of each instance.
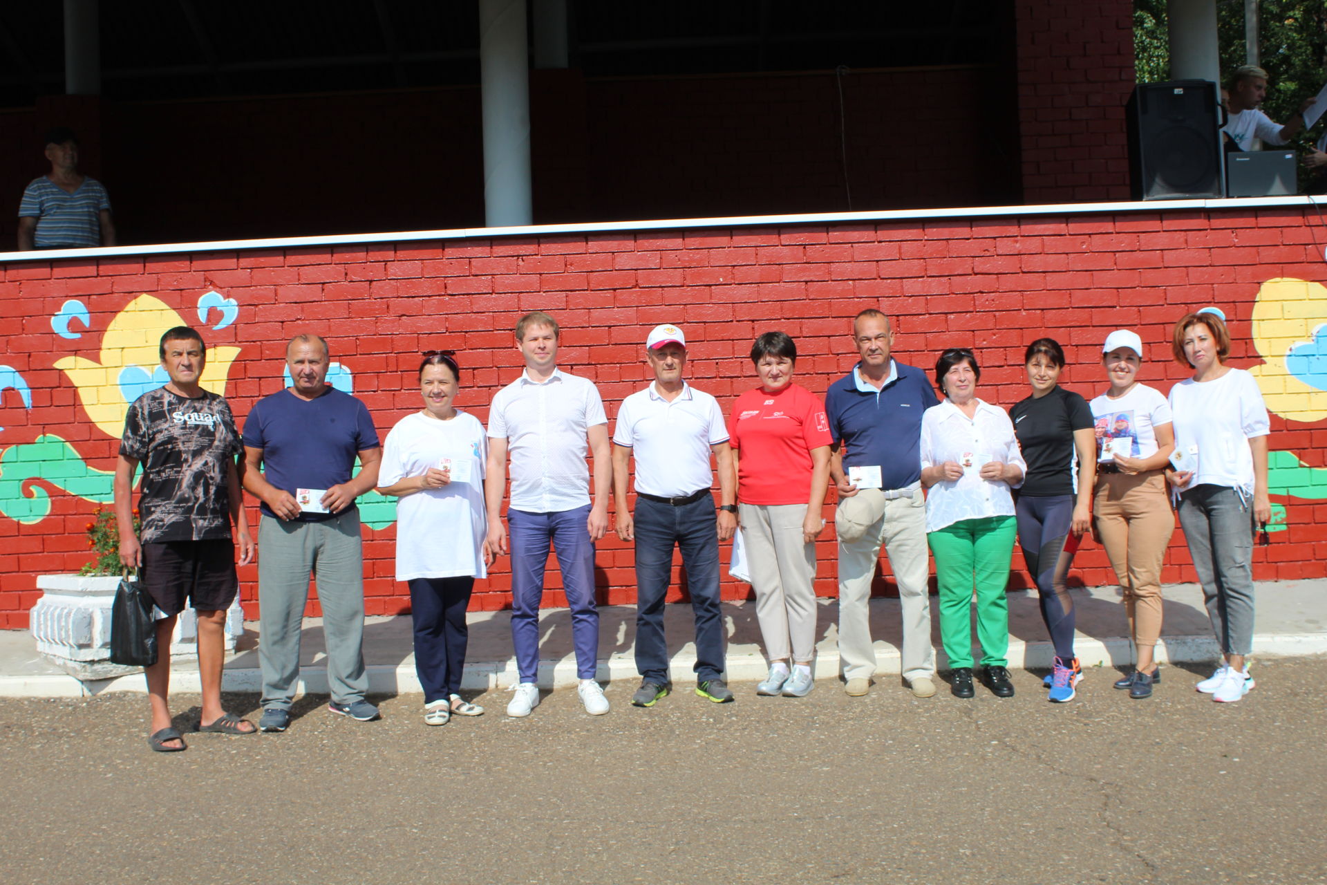
[[[410,585],[415,671],[430,726],[483,707],[460,691],[466,608],[475,579],[487,575],[484,463],[488,438],[474,415],[453,406],[460,369],[450,350],[419,364],[423,409],[406,415],[382,446],[378,488],[397,503],[397,580]]]

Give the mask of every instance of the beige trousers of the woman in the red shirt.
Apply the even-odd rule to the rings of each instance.
[[[807,506],[738,504],[738,512],[766,657],[807,663],[816,653],[816,551],[802,541]]]

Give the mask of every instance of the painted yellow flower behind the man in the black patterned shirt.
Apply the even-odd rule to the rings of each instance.
[[[78,399],[104,434],[119,438],[125,413],[139,395],[166,383],[158,350],[166,329],[188,325],[159,299],[141,295],[115,314],[101,340],[101,362],[62,357],[56,368],[69,377]],[[226,379],[239,348],[208,348],[200,383],[204,390],[226,394]]]

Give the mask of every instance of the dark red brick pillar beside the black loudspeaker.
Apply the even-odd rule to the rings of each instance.
[[[1019,0],[1023,203],[1129,198],[1131,0]]]

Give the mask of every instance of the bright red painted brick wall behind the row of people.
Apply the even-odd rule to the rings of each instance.
[[[141,293],[190,321],[210,289],[239,304],[236,322],[207,338],[210,346],[242,348],[227,387],[240,419],[257,397],[281,386],[284,342],[305,330],[330,340],[333,360],[354,372],[356,394],[384,434],[418,407],[411,374],[427,348],[460,352],[459,405],[486,419],[492,394],[519,372],[512,325],[536,308],[556,313],[564,329],[561,365],[598,382],[610,418],[622,397],[645,383],[641,342],[654,324],[686,328],[691,381],[727,407],[752,385],[746,353],[770,329],[798,340],[798,379],[823,391],[853,365],[848,318],[868,305],[896,317],[896,353],[905,362],[929,369],[945,346],[975,346],[982,395],[1009,406],[1026,395],[1023,348],[1043,334],[1066,346],[1066,385],[1091,394],[1104,386],[1099,348],[1105,333],[1135,328],[1149,349],[1145,379],[1168,389],[1185,375],[1169,358],[1170,325],[1208,304],[1221,305],[1231,320],[1233,364],[1255,365],[1249,320],[1259,285],[1282,276],[1322,279],[1323,239],[1316,218],[1302,208],[1231,208],[12,263],[0,267],[0,364],[27,379],[33,407],[25,410],[15,390],[0,394],[0,448],[50,433],[70,441],[90,466],[113,468],[115,441],[89,423],[69,379],[52,365],[74,349],[94,358],[101,330]],[[52,332],[50,314],[66,299],[82,300],[93,314],[78,341]],[[1327,466],[1327,425],[1274,417],[1273,427],[1273,448]],[[93,504],[44,480],[32,484],[50,492],[50,515],[31,525],[0,517],[0,625],[11,628],[27,624],[36,575],[73,571],[88,559],[84,527]],[[1290,528],[1275,535],[1273,547],[1257,549],[1257,577],[1323,576],[1327,504],[1279,500],[1289,504]],[[368,610],[401,612],[407,597],[391,581],[394,529],[365,535]],[[829,531],[819,556],[816,589],[833,594]],[[609,537],[597,561],[600,600],[630,602],[630,548]],[[1091,541],[1074,575],[1091,585],[1113,580]],[[242,577],[252,614],[255,569],[242,569]],[[1164,580],[1192,577],[1176,532]],[[1027,585],[1020,568],[1014,584]],[[476,588],[475,605],[503,606],[507,589],[500,563]],[[730,598],[746,593],[744,585],[725,585]],[[553,593],[549,601],[561,600]]]

